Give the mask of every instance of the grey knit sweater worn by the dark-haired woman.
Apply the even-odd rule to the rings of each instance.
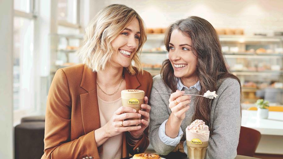
[[[241,128],[240,85],[236,79],[226,78],[219,80],[218,86],[219,88],[216,92],[218,97],[213,99],[210,113],[212,134],[209,138],[207,158],[235,158]],[[183,90],[186,94],[198,94],[196,88],[183,88]],[[153,78],[150,96],[149,140],[157,153],[167,155],[175,147],[164,144],[159,138],[158,130],[159,126],[172,113],[168,101],[170,95],[154,92],[171,93],[171,89],[163,82],[160,75]],[[184,132],[181,140],[186,140],[186,127],[191,124],[195,110],[194,101],[195,96],[192,96],[190,109],[186,112],[186,117],[181,124],[181,129]]]

